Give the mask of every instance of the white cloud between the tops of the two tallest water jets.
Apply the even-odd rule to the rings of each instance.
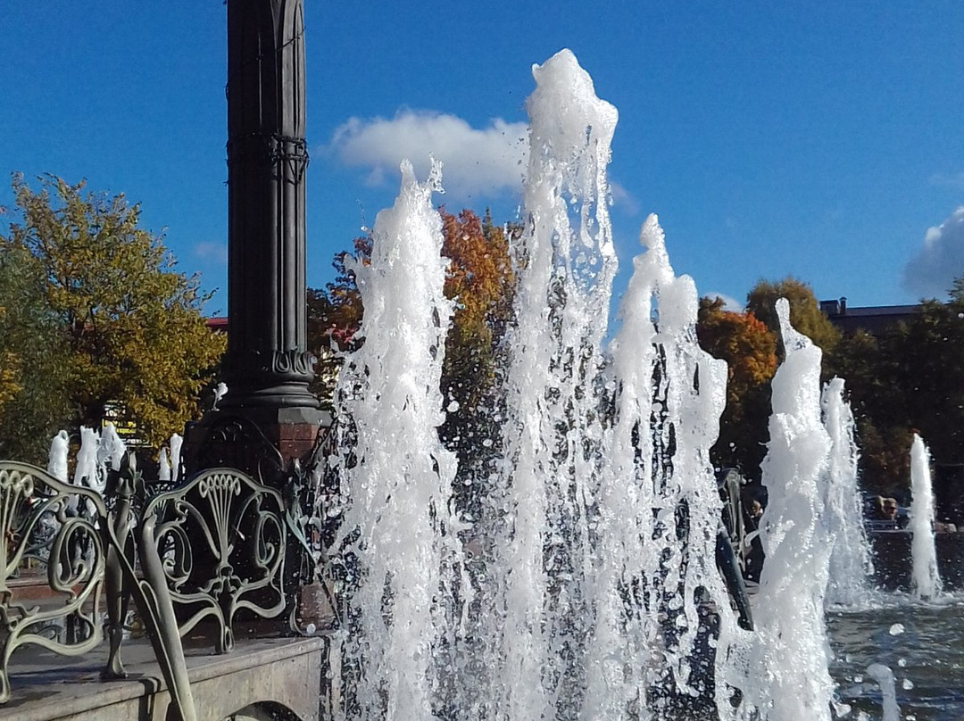
[[[519,191],[528,129],[499,118],[479,129],[454,115],[402,110],[391,120],[350,118],[335,129],[328,149],[345,165],[366,169],[372,184],[397,176],[405,158],[425,177],[435,157],[442,161],[442,187],[466,199]]]

